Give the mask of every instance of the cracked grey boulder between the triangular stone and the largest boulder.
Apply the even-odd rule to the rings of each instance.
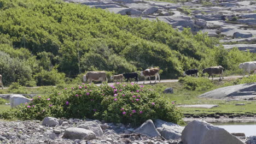
[[[178,124],[165,122],[161,119],[156,119],[155,122],[156,130],[167,140],[177,140],[181,138],[182,130],[184,127]]]

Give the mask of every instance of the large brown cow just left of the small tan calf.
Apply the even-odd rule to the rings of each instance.
[[[107,79],[107,74],[105,71],[88,71],[88,73],[86,73],[83,76],[84,82],[89,81],[90,83],[92,81],[108,81]]]

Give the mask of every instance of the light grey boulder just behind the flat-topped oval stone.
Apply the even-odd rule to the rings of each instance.
[[[83,124],[78,125],[78,128],[84,128],[84,129],[94,131],[96,136],[102,136],[103,135],[103,131],[101,129],[100,124],[98,124],[96,122],[88,121],[88,122],[85,122]]]

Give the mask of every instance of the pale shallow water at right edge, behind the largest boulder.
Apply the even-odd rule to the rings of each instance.
[[[256,123],[212,123],[224,128],[229,133],[245,133],[246,136],[256,135]]]

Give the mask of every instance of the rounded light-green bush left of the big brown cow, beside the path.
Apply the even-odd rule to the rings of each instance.
[[[57,84],[64,83],[65,74],[58,73],[56,69],[51,71],[42,70],[35,76],[38,86],[55,86]]]

